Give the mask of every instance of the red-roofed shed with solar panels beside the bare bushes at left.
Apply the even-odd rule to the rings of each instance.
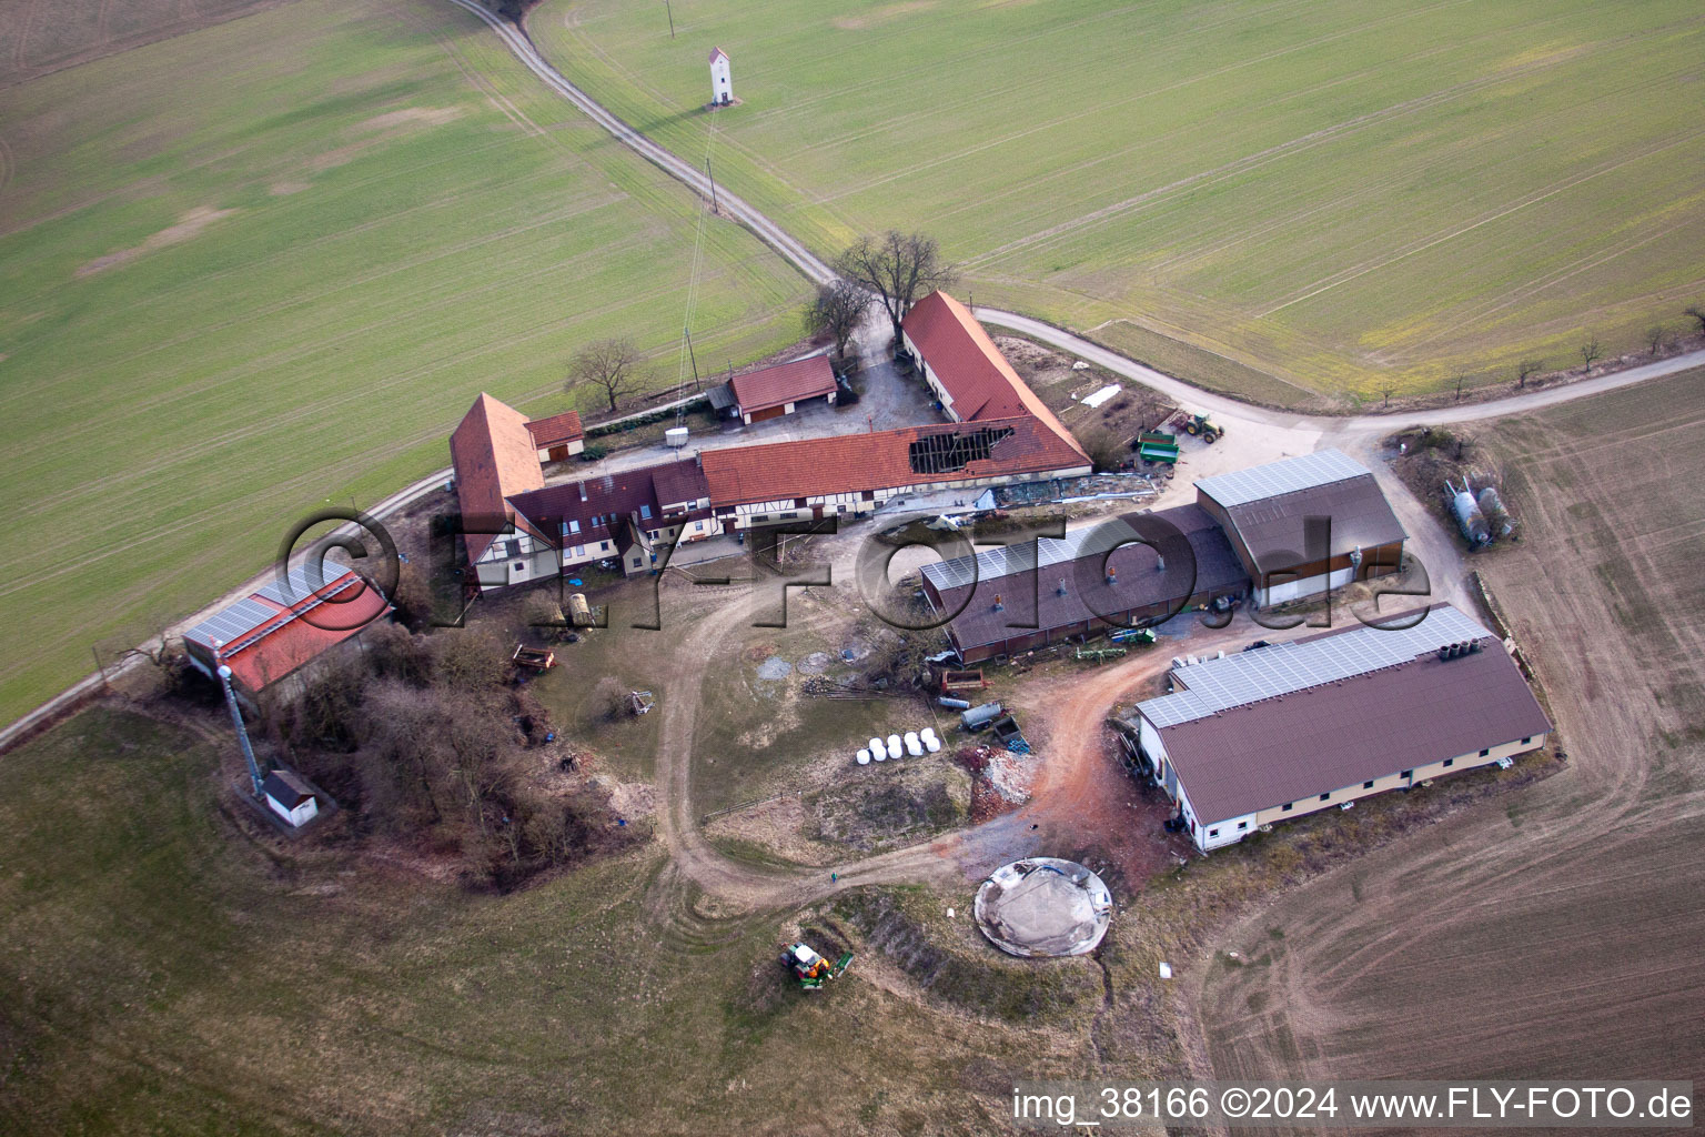
[[[390,610],[377,588],[343,564],[321,571],[292,568],[257,592],[220,609],[184,632],[189,663],[208,678],[230,667],[232,690],[251,709],[256,695],[285,680],[300,685],[303,668]]]

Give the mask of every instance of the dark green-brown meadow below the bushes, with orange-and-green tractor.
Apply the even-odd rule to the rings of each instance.
[[[0,1130],[987,1134],[1006,1079],[1083,1071],[1059,1013],[972,1026],[878,955],[801,996],[789,917],[694,917],[658,846],[469,895],[246,839],[225,762],[102,709],[0,764]],[[883,938],[938,994],[977,1011],[1032,982],[909,905],[934,946],[921,915]]]

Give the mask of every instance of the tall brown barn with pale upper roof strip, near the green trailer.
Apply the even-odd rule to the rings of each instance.
[[[1260,607],[1395,573],[1403,559],[1379,482],[1338,450],[1204,477],[1195,499],[1231,537]]]

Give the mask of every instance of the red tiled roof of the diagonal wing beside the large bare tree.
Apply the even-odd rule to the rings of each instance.
[[[1066,424],[1030,390],[989,339],[977,317],[945,291],[933,291],[905,314],[905,334],[928,360],[962,419],[1030,414],[1088,459]]]

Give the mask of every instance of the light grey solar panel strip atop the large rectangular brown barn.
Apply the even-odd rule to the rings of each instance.
[[[1183,690],[1139,704],[1154,726],[1176,726],[1209,714],[1289,695],[1309,687],[1366,675],[1466,639],[1490,636],[1478,622],[1453,609],[1432,609],[1407,629],[1357,627],[1308,643],[1282,643],[1240,651],[1224,660],[1202,660],[1173,672]]]

